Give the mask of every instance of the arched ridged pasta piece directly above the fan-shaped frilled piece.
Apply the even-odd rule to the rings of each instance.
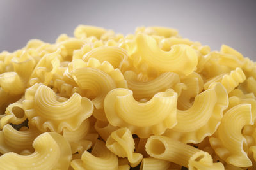
[[[95,58],[100,62],[108,61],[114,68],[120,68],[122,62],[127,59],[127,52],[118,46],[100,46],[84,55],[83,60]]]

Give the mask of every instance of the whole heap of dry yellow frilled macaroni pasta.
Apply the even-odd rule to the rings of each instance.
[[[0,53],[0,169],[255,169],[256,64],[166,27]]]

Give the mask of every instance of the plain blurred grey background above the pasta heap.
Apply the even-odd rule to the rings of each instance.
[[[32,38],[54,43],[79,24],[123,34],[160,25],[212,50],[232,46],[256,60],[256,1],[28,1],[0,0],[0,52],[12,52]]]

